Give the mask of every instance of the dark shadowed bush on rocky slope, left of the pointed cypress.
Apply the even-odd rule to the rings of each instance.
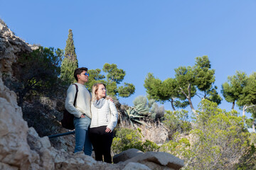
[[[37,94],[50,94],[58,86],[60,75],[60,62],[63,52],[53,47],[39,47],[28,54],[18,58],[14,72],[18,82],[11,84],[11,89],[18,93],[19,106],[28,92],[36,91]]]

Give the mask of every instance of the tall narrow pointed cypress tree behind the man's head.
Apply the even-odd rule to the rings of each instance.
[[[68,30],[68,40],[66,41],[65,55],[61,64],[60,79],[62,79],[65,84],[74,83],[74,71],[76,68],[78,68],[78,59],[75,54],[73,33],[72,30]]]

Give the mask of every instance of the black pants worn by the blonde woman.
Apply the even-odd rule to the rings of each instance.
[[[112,163],[110,147],[113,141],[113,132],[105,132],[106,128],[107,126],[90,128],[89,137],[95,151],[96,161],[102,161],[103,155],[104,162]]]

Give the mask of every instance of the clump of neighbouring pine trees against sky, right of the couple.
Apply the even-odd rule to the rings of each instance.
[[[144,81],[144,87],[149,98],[163,103],[170,101],[174,111],[176,111],[175,107],[186,108],[189,105],[193,113],[196,113],[191,101],[193,96],[201,96],[202,99],[207,98],[218,104],[222,100],[216,90],[217,87],[213,86],[215,70],[210,67],[210,60],[207,56],[196,57],[196,64],[193,67],[174,69],[175,79],[168,78],[161,81],[149,73]]]

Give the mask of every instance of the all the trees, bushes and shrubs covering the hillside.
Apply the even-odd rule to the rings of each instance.
[[[65,91],[74,81],[71,69],[78,67],[72,31],[68,35],[64,60],[62,58],[60,49],[39,47],[21,55],[14,65],[14,78],[5,79],[18,95],[23,118],[40,136],[65,132],[60,127]],[[107,93],[114,98],[134,94],[133,84],[122,84],[125,72],[116,64],[106,63],[102,70],[88,72],[88,89],[100,81],[107,84]],[[119,110],[121,120],[115,129],[112,153],[129,148],[169,152],[185,161],[183,169],[255,169],[256,135],[247,128],[255,125],[256,74],[247,76],[244,72],[236,72],[223,83],[221,92],[225,100],[232,103],[232,110],[228,112],[218,106],[221,98],[214,86],[215,70],[207,56],[196,57],[192,67],[178,67],[174,72],[174,78],[164,81],[149,73],[144,81],[148,98],[137,96],[134,106]],[[197,110],[193,106],[194,96],[201,98]],[[165,111],[158,105],[166,101],[170,101],[174,111]],[[252,119],[240,116],[233,109],[235,104],[243,113],[251,113]],[[185,110],[186,106],[192,113]],[[164,125],[169,131],[169,140],[161,145],[142,140],[142,129],[138,127],[146,127],[149,123]],[[60,146],[63,140],[51,142],[53,146],[63,148],[63,143]],[[68,150],[72,144],[65,146]]]

